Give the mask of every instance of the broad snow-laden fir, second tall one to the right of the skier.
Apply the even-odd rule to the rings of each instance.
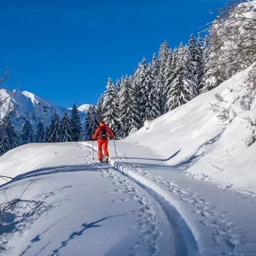
[[[121,122],[120,136],[125,138],[130,132],[135,132],[140,127],[140,118],[136,108],[135,92],[132,88],[132,77],[128,77],[126,75],[125,78],[122,78],[119,99],[119,118]]]

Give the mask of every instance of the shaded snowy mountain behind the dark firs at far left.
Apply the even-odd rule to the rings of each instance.
[[[70,115],[71,111],[60,107],[53,102],[36,96],[28,91],[8,91],[0,89],[0,102],[3,105],[0,106],[0,119],[10,114],[11,122],[14,128],[19,132],[22,129],[22,124],[25,120],[29,120],[33,126],[36,126],[38,121],[49,125],[50,119],[54,113],[57,113],[60,117],[67,111]],[[85,114],[81,113],[81,118],[84,123]]]

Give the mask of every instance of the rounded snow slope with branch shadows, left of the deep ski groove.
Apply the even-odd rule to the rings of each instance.
[[[19,174],[0,187],[1,256],[174,255],[160,205],[91,154],[83,144],[48,143],[0,157],[0,174]]]

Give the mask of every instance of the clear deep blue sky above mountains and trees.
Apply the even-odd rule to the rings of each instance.
[[[9,88],[63,107],[96,103],[108,77],[132,74],[160,43],[187,42],[222,0],[0,1],[0,70]]]

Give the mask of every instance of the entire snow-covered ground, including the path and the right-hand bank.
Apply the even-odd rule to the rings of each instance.
[[[0,174],[15,177],[1,179],[0,200],[29,202],[3,213],[1,255],[254,255],[250,68],[115,141],[117,155],[110,141],[110,165],[93,160],[91,141],[0,157]],[[224,123],[210,103],[231,107]]]

